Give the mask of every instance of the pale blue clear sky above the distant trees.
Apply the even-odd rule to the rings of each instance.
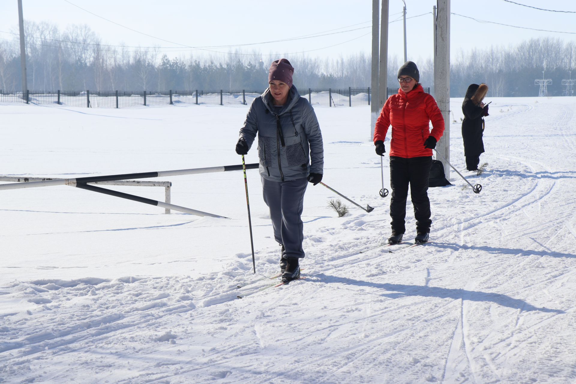
[[[552,10],[576,11],[575,0],[514,0],[525,5]],[[408,59],[429,58],[433,52],[432,8],[435,0],[406,0],[407,6],[407,45]],[[118,24],[135,29],[160,39],[192,47],[215,45],[250,44],[262,41],[290,39],[314,33],[335,33],[332,35],[277,41],[268,44],[245,45],[243,52],[260,50],[265,62],[267,54],[280,52],[289,57],[293,52],[308,51],[310,56],[337,58],[356,52],[370,53],[372,1],[371,0],[24,0],[25,20],[50,21],[65,29],[69,24],[88,24],[100,35],[103,43],[126,45],[161,45],[175,47],[177,44],[154,39],[122,28],[112,22],[94,16],[107,18]],[[389,54],[403,58],[403,23],[401,0],[389,0]],[[517,29],[508,26],[480,23],[469,18],[452,15],[451,53],[454,58],[459,50],[468,51],[472,47],[486,48],[490,45],[516,44],[532,37],[559,37],[565,41],[576,41],[576,13],[545,12],[515,5],[505,0],[452,0],[452,12],[481,20],[573,32],[552,33]],[[420,14],[424,16],[418,16]],[[0,31],[17,32],[17,0],[0,2]],[[350,31],[355,29],[354,31]],[[362,35],[366,35],[360,37]],[[3,39],[13,36],[0,33]],[[351,41],[348,41],[351,40]],[[344,41],[348,41],[344,43]],[[338,44],[338,45],[335,45]],[[329,47],[335,45],[334,47]],[[324,48],[324,49],[320,49]],[[230,48],[205,48],[210,51],[228,52]],[[233,48],[232,48],[233,49]],[[174,51],[174,50],[166,50]],[[169,56],[188,55],[191,50],[181,47],[168,53]],[[210,51],[195,50],[193,52]],[[276,55],[274,55],[275,58]]]

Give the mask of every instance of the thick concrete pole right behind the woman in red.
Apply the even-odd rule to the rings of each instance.
[[[450,161],[450,0],[438,0],[434,29],[434,98],[444,117],[444,136],[436,145],[439,154]],[[450,180],[450,168],[444,164]]]

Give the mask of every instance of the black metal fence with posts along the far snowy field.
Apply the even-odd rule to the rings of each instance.
[[[430,93],[430,88],[425,88]],[[26,104],[58,104],[87,108],[127,108],[138,105],[213,104],[248,105],[259,97],[264,90],[169,90],[151,91],[34,91],[3,92],[0,90],[0,102],[25,102]],[[323,107],[357,107],[370,105],[370,88],[317,89],[298,88],[301,97],[312,105]],[[388,97],[398,92],[388,88]]]

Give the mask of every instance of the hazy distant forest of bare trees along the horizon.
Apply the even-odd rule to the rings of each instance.
[[[262,52],[231,51],[206,54],[192,51],[168,58],[164,48],[105,45],[87,25],[65,31],[47,22],[26,22],[28,88],[31,90],[262,90],[267,86],[270,62],[279,57]],[[456,53],[456,55],[455,55]],[[396,87],[398,55],[388,59],[388,86]],[[562,96],[562,79],[576,64],[575,41],[532,39],[509,47],[472,48],[452,52],[450,95],[462,97],[470,83],[485,82],[489,96],[537,96],[535,79],[552,79],[549,96]],[[297,88],[367,88],[370,54],[339,58],[295,55],[287,59],[295,68]],[[420,83],[434,89],[431,59],[410,58],[418,64]],[[20,90],[20,44],[0,40],[0,89]],[[576,77],[576,71],[571,75]]]

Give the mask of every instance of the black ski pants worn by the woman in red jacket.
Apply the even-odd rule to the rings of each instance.
[[[430,220],[430,200],[427,191],[431,164],[431,156],[390,157],[390,185],[392,187],[390,216],[393,232],[404,233],[406,231],[408,185],[410,185],[410,197],[414,206],[416,231],[418,233],[430,232],[432,220]]]

